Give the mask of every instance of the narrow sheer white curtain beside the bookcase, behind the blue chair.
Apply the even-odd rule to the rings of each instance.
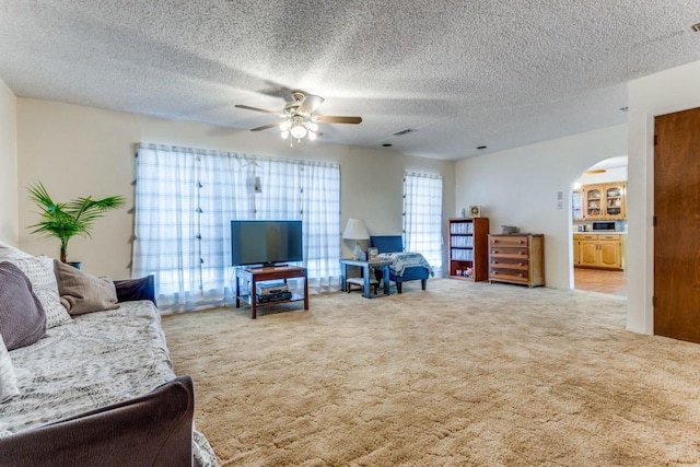
[[[404,236],[407,252],[421,253],[435,273],[442,270],[442,177],[404,175]]]

